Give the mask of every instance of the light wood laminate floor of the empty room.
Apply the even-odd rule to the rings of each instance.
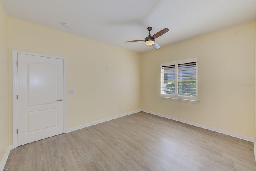
[[[144,112],[12,149],[10,171],[255,171],[253,143]]]

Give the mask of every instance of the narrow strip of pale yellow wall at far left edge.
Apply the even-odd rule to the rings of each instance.
[[[9,54],[7,14],[0,2],[0,161],[9,143]]]

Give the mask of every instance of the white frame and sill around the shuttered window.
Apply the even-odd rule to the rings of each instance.
[[[178,95],[178,64],[186,64],[196,62],[196,97],[187,97]],[[162,85],[164,84],[164,76],[161,74],[163,66],[175,65],[175,95],[162,94]],[[198,58],[190,58],[186,60],[178,60],[173,62],[164,62],[160,64],[160,98],[165,100],[182,101],[187,103],[198,103]]]

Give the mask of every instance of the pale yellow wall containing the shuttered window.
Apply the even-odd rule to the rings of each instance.
[[[254,48],[252,21],[142,54],[142,109],[255,137]],[[194,57],[200,102],[160,99],[159,64]]]

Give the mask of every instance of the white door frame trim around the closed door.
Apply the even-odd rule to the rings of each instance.
[[[66,133],[66,58],[60,56],[52,56],[46,54],[38,54],[33,52],[25,52],[20,50],[12,50],[12,98],[13,98],[13,131],[12,131],[12,148],[18,147],[18,68],[17,68],[17,60],[18,54],[26,54],[26,55],[33,55],[33,56],[42,56],[47,58],[57,58],[63,60],[63,74],[64,74],[64,127],[63,132]]]

